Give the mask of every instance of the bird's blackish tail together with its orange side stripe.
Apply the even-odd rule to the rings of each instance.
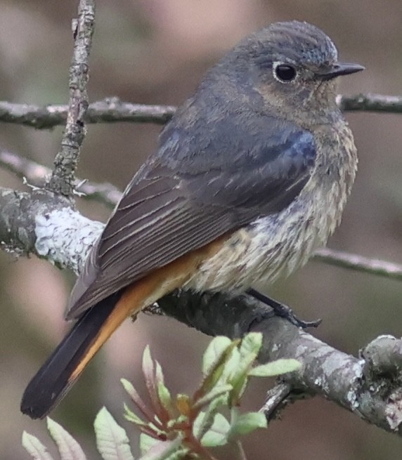
[[[223,235],[206,247],[154,270],[83,313],[28,384],[22,396],[21,412],[32,419],[46,416],[129,315],[136,315],[146,305],[152,305],[168,292],[181,287],[205,258],[216,254],[216,247],[220,248],[226,237]]]

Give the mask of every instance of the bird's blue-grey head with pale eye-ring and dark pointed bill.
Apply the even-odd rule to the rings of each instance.
[[[275,22],[249,35],[222,63],[247,91],[257,91],[266,107],[292,119],[312,113],[325,118],[335,107],[337,77],[364,69],[339,62],[332,40],[298,21]]]

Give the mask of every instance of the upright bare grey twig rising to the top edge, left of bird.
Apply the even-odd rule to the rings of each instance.
[[[54,160],[54,170],[46,188],[70,197],[74,192],[74,174],[79,149],[85,136],[85,112],[88,108],[86,84],[89,79],[89,51],[91,50],[95,4],[93,0],[80,0],[78,19],[73,21],[74,53],[70,65],[70,100],[67,124],[61,148]]]

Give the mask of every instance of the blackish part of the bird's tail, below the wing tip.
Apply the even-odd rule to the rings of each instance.
[[[42,419],[60,402],[82,372],[82,369],[76,372],[79,364],[96,342],[118,298],[116,295],[105,298],[79,318],[28,384],[21,412],[32,419]]]

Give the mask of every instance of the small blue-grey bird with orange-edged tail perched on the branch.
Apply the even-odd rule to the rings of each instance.
[[[241,293],[304,265],[357,169],[337,77],[364,67],[307,22],[273,22],[219,60],[164,126],[72,289],[75,320],[28,384],[41,419],[127,318],[175,289]]]

